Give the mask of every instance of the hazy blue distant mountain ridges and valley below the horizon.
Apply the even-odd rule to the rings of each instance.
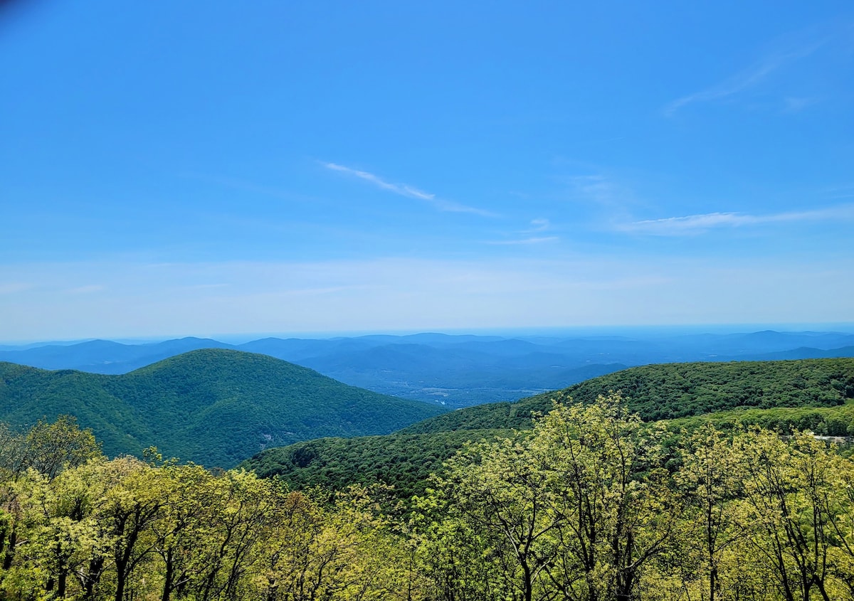
[[[0,361],[100,374],[127,373],[202,348],[227,348],[284,359],[378,393],[462,407],[566,388],[635,365],[854,357],[854,334],[763,330],[641,338],[423,333],[263,338],[243,344],[194,337],[141,344],[93,340],[0,348]]]

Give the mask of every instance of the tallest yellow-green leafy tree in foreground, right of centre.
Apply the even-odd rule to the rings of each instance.
[[[680,514],[656,432],[616,394],[556,406],[529,435],[468,446],[432,503],[474,537],[498,598],[635,598]],[[437,527],[434,527],[436,529]]]

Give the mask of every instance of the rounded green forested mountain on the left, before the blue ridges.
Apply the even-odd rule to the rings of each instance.
[[[208,467],[231,467],[268,446],[320,436],[384,434],[442,411],[225,349],[115,376],[0,364],[4,422],[30,425],[71,414],[110,456],[157,446]]]

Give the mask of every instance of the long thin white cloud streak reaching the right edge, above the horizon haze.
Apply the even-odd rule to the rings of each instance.
[[[651,236],[688,236],[722,227],[741,227],[774,223],[804,223],[854,219],[854,205],[828,207],[815,211],[746,215],[742,213],[704,213],[685,217],[644,219],[619,225],[617,230]]]

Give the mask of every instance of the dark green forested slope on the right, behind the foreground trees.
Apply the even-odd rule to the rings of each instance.
[[[466,441],[530,429],[532,417],[550,411],[554,400],[589,404],[611,391],[623,394],[629,411],[644,421],[695,416],[677,422],[676,428],[713,421],[721,428],[758,423],[854,435],[854,406],[845,405],[854,399],[854,359],[645,365],[516,403],[431,417],[392,435],[267,449],[243,465],[262,476],[281,476],[296,487],[379,479],[407,497],[423,491],[424,478]]]

